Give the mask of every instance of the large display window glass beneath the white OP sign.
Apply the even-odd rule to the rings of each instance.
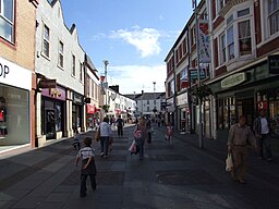
[[[0,84],[0,145],[29,142],[29,93]]]

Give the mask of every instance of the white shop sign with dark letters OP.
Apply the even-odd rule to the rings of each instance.
[[[0,57],[0,83],[31,90],[32,71]]]

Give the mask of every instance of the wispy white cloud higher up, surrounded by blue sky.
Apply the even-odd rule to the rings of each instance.
[[[161,48],[159,44],[160,32],[155,28],[140,28],[138,26],[129,29],[118,29],[112,32],[111,38],[123,39],[134,46],[143,58],[157,56]]]

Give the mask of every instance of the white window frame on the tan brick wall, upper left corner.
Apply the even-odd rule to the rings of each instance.
[[[15,0],[12,0],[12,9],[11,9],[11,12],[12,12],[12,15],[11,15],[11,19],[12,20],[9,20],[9,17],[7,17],[4,15],[4,7],[2,7],[4,3],[3,3],[4,0],[0,0],[0,20],[3,21],[3,24],[7,26],[7,24],[10,26],[9,29],[11,29],[11,34],[8,34],[8,36],[11,36],[10,38],[8,37],[4,37],[4,35],[7,36],[5,34],[5,28],[3,27],[3,35],[0,35],[0,37],[11,44],[15,44]]]

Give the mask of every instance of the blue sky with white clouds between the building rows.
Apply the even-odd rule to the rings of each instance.
[[[165,91],[165,58],[191,16],[192,0],[61,0],[70,28],[99,75],[121,94]]]

